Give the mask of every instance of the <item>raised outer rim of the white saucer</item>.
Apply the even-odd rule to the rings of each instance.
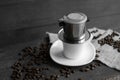
[[[55,45],[58,41],[61,41],[61,40],[55,41],[55,42],[52,44],[51,48],[50,48],[50,57],[51,57],[51,59],[52,59],[55,63],[57,63],[57,64],[64,65],[64,66],[83,66],[83,65],[89,64],[90,62],[92,62],[92,61],[95,59],[95,56],[96,56],[95,47],[94,47],[94,45],[93,45],[91,42],[89,42],[88,44],[91,45],[91,46],[92,46],[92,49],[93,49],[93,53],[92,53],[93,56],[90,58],[90,60],[89,60],[88,62],[82,63],[82,64],[74,64],[74,65],[73,65],[73,64],[70,64],[70,63],[69,63],[69,64],[64,64],[64,63],[58,61],[57,59],[55,59],[54,56],[53,56],[53,53],[51,52],[51,50],[55,49],[55,48],[53,48],[53,45]],[[66,60],[75,60],[75,59],[65,58],[64,55],[62,55],[62,56],[63,56],[64,59],[66,59]],[[76,61],[79,61],[79,60],[76,59]]]

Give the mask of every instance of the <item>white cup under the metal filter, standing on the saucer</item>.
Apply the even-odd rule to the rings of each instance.
[[[89,50],[87,50],[88,45],[90,43],[90,41],[92,40],[92,35],[90,35],[90,38],[83,42],[83,43],[79,43],[79,44],[71,44],[71,43],[66,43],[63,42],[63,55],[66,58],[69,59],[80,59],[80,58],[84,58]]]

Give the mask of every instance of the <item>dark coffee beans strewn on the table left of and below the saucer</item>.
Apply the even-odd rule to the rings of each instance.
[[[25,47],[18,53],[19,58],[11,66],[12,80],[58,80],[60,77],[69,78],[75,72],[88,72],[94,70],[96,67],[100,66],[102,63],[99,61],[93,61],[88,65],[78,67],[77,70],[74,70],[72,67],[62,66],[55,64],[50,56],[49,50],[51,43],[49,40],[42,42],[39,46],[36,47]],[[99,51],[98,51],[99,52]],[[54,67],[57,68],[56,72],[51,72],[49,67],[51,64],[54,64]],[[83,80],[79,78],[78,80]]]

